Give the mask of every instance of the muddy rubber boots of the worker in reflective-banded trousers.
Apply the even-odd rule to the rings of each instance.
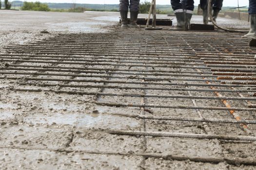
[[[175,13],[177,19],[177,25],[170,28],[172,31],[188,31],[192,14],[185,12]]]

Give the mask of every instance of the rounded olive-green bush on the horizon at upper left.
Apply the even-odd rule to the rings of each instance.
[[[37,2],[24,2],[21,7],[23,11],[50,11],[50,8],[46,3]]]

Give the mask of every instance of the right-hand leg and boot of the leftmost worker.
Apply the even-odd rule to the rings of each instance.
[[[131,18],[131,28],[139,28],[137,25],[139,11],[139,0],[130,0],[130,18]]]

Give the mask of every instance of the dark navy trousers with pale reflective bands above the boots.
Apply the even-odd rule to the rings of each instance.
[[[171,0],[171,5],[174,13],[182,12],[183,9],[191,14],[194,11],[194,0]]]

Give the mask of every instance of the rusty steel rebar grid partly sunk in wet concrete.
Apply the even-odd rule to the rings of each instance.
[[[256,49],[247,47],[248,42],[241,41],[238,34],[177,33],[134,31],[134,38],[129,36],[129,31],[123,30],[103,34],[59,34],[36,43],[13,45],[0,53],[0,74],[3,75],[0,80],[12,81],[16,87],[8,89],[14,91],[92,95],[96,97],[94,103],[98,105],[139,107],[140,113],[134,118],[143,120],[140,132],[109,133],[144,136],[144,151],[147,147],[145,136],[255,141],[255,137],[250,134],[240,137],[216,136],[207,123],[240,124],[246,127],[247,124],[256,124],[256,120],[243,118],[242,114],[244,111],[256,113],[256,108],[252,107],[256,101],[252,95],[256,93]],[[218,38],[213,38],[216,35]],[[117,92],[104,92],[107,89]],[[127,90],[127,93],[118,93],[120,89]],[[129,90],[137,90],[137,93]],[[186,92],[188,95],[167,95],[167,92]],[[225,92],[225,95],[203,96],[193,95],[192,92]],[[136,97],[141,98],[141,102],[98,102],[102,96]],[[148,103],[147,99],[150,98],[156,98],[157,101],[187,99],[191,105]],[[198,106],[200,99],[251,104]],[[146,115],[145,110],[155,107],[184,110],[184,117],[164,117],[158,116],[158,113]],[[198,118],[187,116],[187,109],[196,110]],[[203,116],[204,110],[232,111],[235,116],[238,115],[236,112],[241,112],[239,119],[213,119]],[[147,119],[200,122],[206,127],[206,134],[211,135],[151,133],[147,132]]]

